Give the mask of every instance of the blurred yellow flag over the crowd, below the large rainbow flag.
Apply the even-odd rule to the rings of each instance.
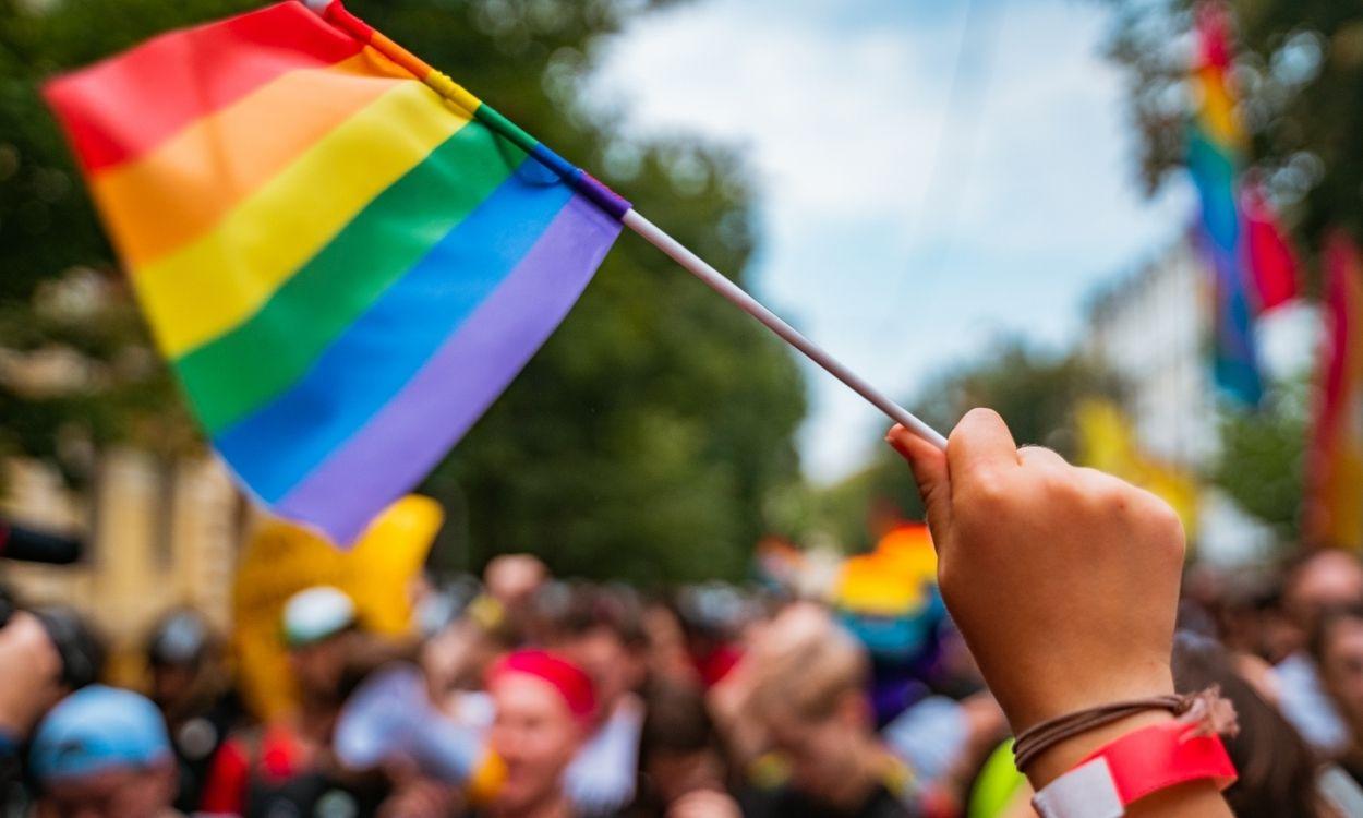
[[[284,519],[266,521],[247,544],[232,588],[233,648],[241,690],[263,718],[286,713],[293,688],[281,616],[294,593],[334,585],[354,601],[369,633],[399,635],[412,626],[412,590],[444,511],[408,495],[388,506],[350,551]]]

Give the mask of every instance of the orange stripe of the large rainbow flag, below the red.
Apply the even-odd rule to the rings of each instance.
[[[395,71],[372,50],[292,71],[150,154],[97,173],[91,192],[124,262],[143,267],[210,232],[318,140],[410,82]]]

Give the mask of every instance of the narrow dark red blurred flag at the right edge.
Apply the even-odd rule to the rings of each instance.
[[[1303,528],[1311,544],[1363,548],[1363,262],[1349,236],[1330,237],[1325,277]]]

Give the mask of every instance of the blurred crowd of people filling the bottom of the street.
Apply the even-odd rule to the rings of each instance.
[[[643,593],[507,555],[424,584],[414,634],[393,638],[313,586],[279,618],[293,705],[270,718],[195,611],[151,628],[134,691],[101,683],[95,626],[5,599],[0,815],[1033,814],[931,577],[916,594],[890,611],[770,579]],[[1174,671],[1236,706],[1238,815],[1363,814],[1355,555],[1191,569]]]

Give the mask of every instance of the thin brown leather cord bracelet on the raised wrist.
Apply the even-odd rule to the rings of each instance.
[[[1086,708],[1065,716],[1048,718],[1032,725],[1018,733],[1013,743],[1013,763],[1018,770],[1026,772],[1037,755],[1051,747],[1089,732],[1120,721],[1129,716],[1146,713],[1149,710],[1168,710],[1175,716],[1193,716],[1194,721],[1204,721],[1208,733],[1235,735],[1235,708],[1221,698],[1219,687],[1209,687],[1201,693],[1184,695],[1152,695],[1126,702]]]

